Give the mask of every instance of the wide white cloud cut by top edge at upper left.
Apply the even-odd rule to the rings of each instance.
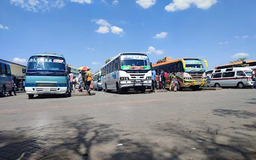
[[[66,6],[68,2],[74,2],[79,4],[91,4],[92,0],[8,0],[15,6],[20,6],[22,9],[31,12],[47,12],[52,8],[61,9]]]

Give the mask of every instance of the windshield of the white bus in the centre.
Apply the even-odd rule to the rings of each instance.
[[[121,69],[150,69],[150,63],[144,55],[122,55]]]

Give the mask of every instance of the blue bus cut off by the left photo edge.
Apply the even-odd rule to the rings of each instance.
[[[0,61],[0,97],[12,90],[12,73],[8,63]]]

